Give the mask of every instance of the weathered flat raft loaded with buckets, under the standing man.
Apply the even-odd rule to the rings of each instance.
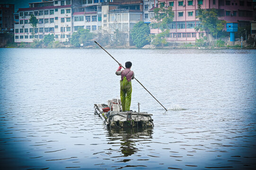
[[[138,103],[139,106],[139,103]],[[113,99],[106,104],[94,104],[95,114],[104,120],[107,127],[153,127],[152,114],[147,112],[121,111],[121,101]],[[103,111],[104,110],[104,111]],[[109,110],[109,111],[108,111]]]

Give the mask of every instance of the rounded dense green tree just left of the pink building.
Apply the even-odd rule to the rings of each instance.
[[[136,45],[136,47],[141,48],[149,42],[147,38],[150,34],[150,27],[144,24],[143,21],[138,22],[135,24],[131,31],[132,42]]]

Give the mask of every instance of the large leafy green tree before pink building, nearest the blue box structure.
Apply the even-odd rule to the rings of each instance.
[[[198,5],[198,16],[196,16],[196,18],[201,21],[201,24],[194,29],[196,31],[205,31],[207,35],[217,35],[218,32],[221,32],[224,29],[224,25],[226,24],[225,20],[218,19],[216,9],[202,9],[200,4]]]

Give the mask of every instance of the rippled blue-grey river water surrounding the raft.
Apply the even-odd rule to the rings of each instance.
[[[0,49],[1,170],[256,169],[255,50],[108,49],[152,129],[108,130],[94,103],[119,96],[101,49]]]

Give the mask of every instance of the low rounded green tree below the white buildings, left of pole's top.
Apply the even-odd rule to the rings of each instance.
[[[80,46],[81,43],[85,43],[88,40],[93,39],[94,34],[90,33],[88,29],[79,29],[77,32],[73,33],[70,38],[70,43],[74,46]]]

